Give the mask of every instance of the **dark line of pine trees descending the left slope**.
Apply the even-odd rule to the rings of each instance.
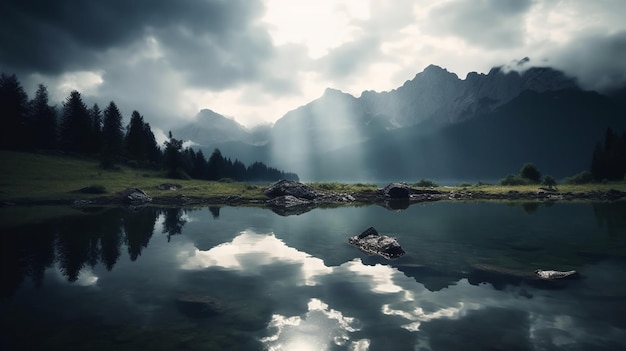
[[[117,164],[162,169],[168,177],[237,181],[298,179],[293,173],[271,168],[262,162],[246,167],[231,161],[216,149],[207,160],[202,151],[183,148],[173,138],[159,147],[150,124],[133,111],[123,126],[115,102],[104,108],[84,103],[74,90],[60,109],[49,103],[48,89],[39,84],[29,99],[16,75],[0,75],[0,149],[16,151],[60,150],[99,159],[105,169]]]

